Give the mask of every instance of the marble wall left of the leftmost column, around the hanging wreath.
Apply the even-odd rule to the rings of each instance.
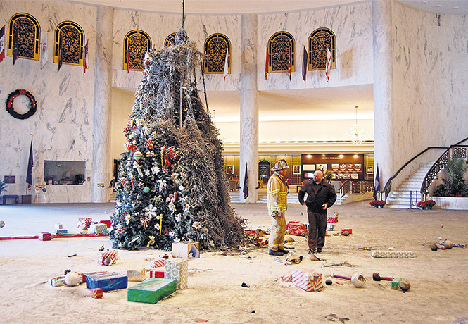
[[[89,57],[94,58],[96,7],[61,1],[0,1],[1,25],[15,13],[28,13],[39,22],[41,36],[47,35],[48,63],[6,56],[0,63],[0,102],[16,89],[26,89],[37,101],[37,112],[30,118],[13,118],[0,109],[0,176],[15,175],[6,194],[26,194],[30,133],[34,134],[33,185],[44,179],[44,160],[85,161],[86,177],[91,176],[93,157],[94,63],[83,75],[82,66],[53,63],[53,33],[56,26],[72,20],[82,27],[89,40]],[[4,106],[3,106],[4,107]],[[89,182],[84,185],[47,186],[48,202],[90,201]],[[34,194],[34,189],[32,189]],[[34,197],[32,199],[34,201]],[[40,201],[44,202],[43,194]]]

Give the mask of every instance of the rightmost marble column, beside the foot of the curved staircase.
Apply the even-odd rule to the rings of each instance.
[[[393,165],[393,0],[372,1],[374,47],[374,170],[379,164],[381,190],[396,172]]]

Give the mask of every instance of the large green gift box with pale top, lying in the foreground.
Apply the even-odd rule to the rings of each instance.
[[[175,286],[174,279],[147,279],[127,289],[127,301],[156,304],[175,292]]]

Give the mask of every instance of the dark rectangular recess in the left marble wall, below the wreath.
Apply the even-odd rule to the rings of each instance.
[[[44,181],[47,185],[83,185],[85,175],[85,161],[44,161]]]

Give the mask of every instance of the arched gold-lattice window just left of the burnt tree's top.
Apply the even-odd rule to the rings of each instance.
[[[123,46],[124,70],[144,70],[143,59],[151,49],[151,38],[143,30],[132,30],[125,35]]]

